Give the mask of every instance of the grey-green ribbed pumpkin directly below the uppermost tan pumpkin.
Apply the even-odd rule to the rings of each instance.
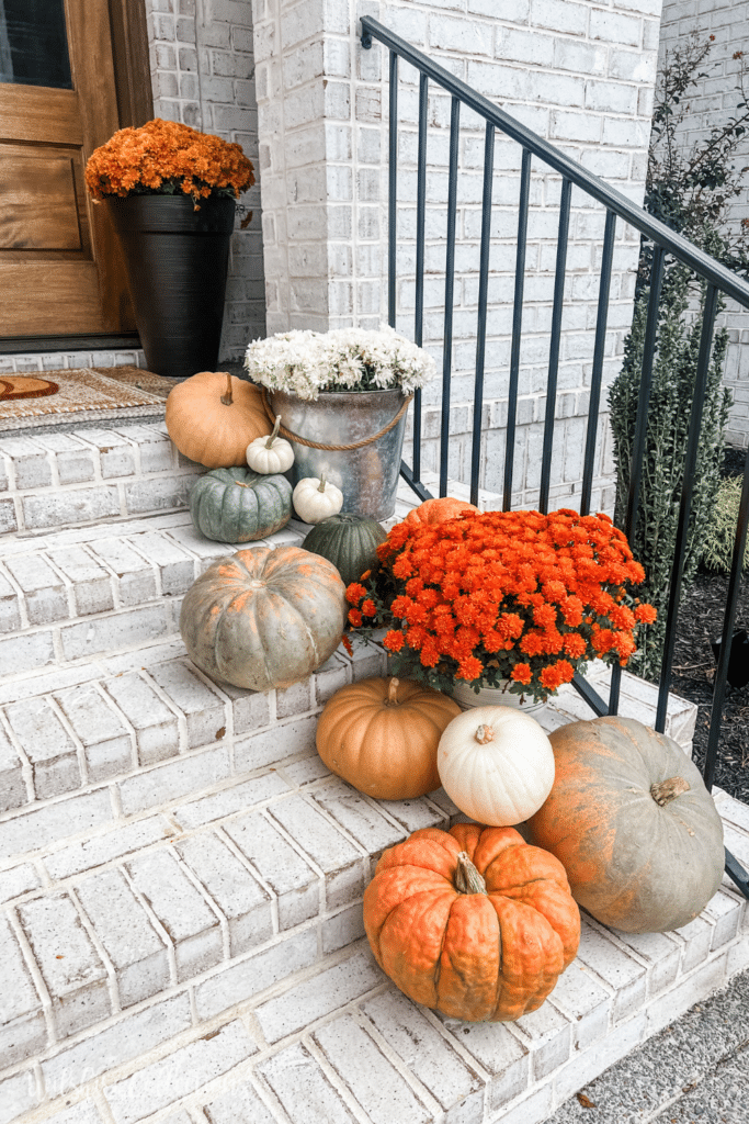
[[[249,543],[285,527],[292,487],[282,475],[249,469],[213,469],[190,492],[190,515],[205,538]]]

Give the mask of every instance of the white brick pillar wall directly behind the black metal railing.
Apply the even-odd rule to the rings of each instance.
[[[386,315],[387,82],[385,52],[360,48],[357,16],[377,17],[558,144],[568,155],[641,200],[655,81],[659,4],[613,7],[532,0],[497,15],[495,4],[351,0],[328,4],[257,4],[259,145],[268,332],[376,326]],[[499,91],[502,91],[500,96]],[[445,299],[445,205],[450,99],[430,87],[424,343],[441,360]],[[413,334],[418,78],[400,64],[398,320]],[[450,477],[469,473],[481,230],[483,125],[462,111],[453,352]],[[496,137],[494,230],[490,263],[483,487],[500,490],[503,439],[499,404],[506,398],[512,278],[517,232],[519,146]],[[556,254],[559,179],[538,162],[521,354],[515,489],[518,504],[537,501],[544,387]],[[582,474],[583,427],[592,366],[601,208],[573,198],[552,497],[568,500]],[[604,363],[605,386],[620,366],[631,318],[638,238],[621,224]],[[585,284],[584,284],[585,283]],[[462,404],[466,404],[463,406]],[[440,389],[424,391],[423,471],[437,468],[435,422]],[[605,418],[601,420],[605,436]],[[431,435],[430,435],[431,434]],[[408,455],[408,444],[407,444]],[[609,442],[601,439],[593,502],[610,507]]]

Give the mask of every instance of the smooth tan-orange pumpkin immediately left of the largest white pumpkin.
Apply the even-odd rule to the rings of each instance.
[[[325,706],[318,753],[331,772],[378,800],[407,800],[439,788],[437,746],[460,714],[447,695],[409,679],[360,679]]]

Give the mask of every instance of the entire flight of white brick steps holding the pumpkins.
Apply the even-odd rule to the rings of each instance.
[[[180,599],[234,547],[192,529],[197,470],[158,426],[7,438],[0,465],[0,1124],[540,1124],[749,966],[725,881],[678,933],[585,918],[518,1023],[410,1003],[362,894],[386,846],[457,809],[369,800],[314,750],[326,699],[383,653],[264,694],[192,668]],[[622,711],[652,722],[652,688],[624,676]],[[585,716],[566,689],[542,720]],[[693,724],[672,698],[685,749]],[[749,809],[716,801],[746,864]]]

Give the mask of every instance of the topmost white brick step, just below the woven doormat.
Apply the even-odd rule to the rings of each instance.
[[[91,526],[185,506],[195,473],[164,423],[0,436],[0,533]]]

